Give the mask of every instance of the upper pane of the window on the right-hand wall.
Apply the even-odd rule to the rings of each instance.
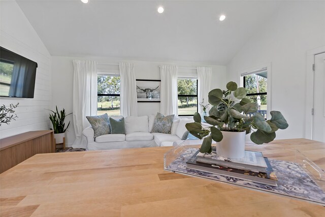
[[[245,76],[245,88],[247,90],[247,94],[255,94],[256,92],[267,92],[267,72]]]

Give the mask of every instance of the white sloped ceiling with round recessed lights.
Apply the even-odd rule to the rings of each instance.
[[[278,1],[17,1],[51,55],[227,64]],[[158,6],[165,12],[157,13]],[[219,21],[220,14],[226,19]]]

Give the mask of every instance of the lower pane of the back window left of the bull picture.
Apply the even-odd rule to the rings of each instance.
[[[120,97],[98,97],[97,115],[121,115]]]

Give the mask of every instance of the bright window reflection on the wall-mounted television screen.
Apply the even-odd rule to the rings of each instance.
[[[13,68],[13,64],[0,62],[0,96],[9,96]]]

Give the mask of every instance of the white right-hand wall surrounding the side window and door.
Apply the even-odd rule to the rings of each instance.
[[[271,110],[289,123],[277,139],[304,138],[307,51],[325,45],[325,2],[285,2],[227,66],[227,80],[264,63],[272,65]],[[311,66],[309,66],[311,67]]]

